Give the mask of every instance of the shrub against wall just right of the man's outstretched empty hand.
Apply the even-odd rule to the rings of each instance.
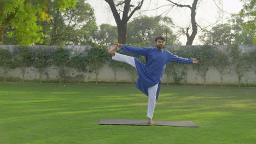
[[[199,63],[193,64],[193,69],[197,70],[197,75],[201,77],[202,85],[206,86],[206,73],[214,64],[216,59],[216,49],[212,46],[201,46],[193,51],[194,57]]]

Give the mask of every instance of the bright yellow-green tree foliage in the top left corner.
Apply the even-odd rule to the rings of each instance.
[[[3,31],[8,25],[15,29],[9,32],[9,37],[15,37],[18,44],[31,45],[42,43],[42,27],[37,24],[37,20],[47,21],[47,5],[54,2],[54,7],[59,7],[62,11],[65,8],[74,8],[77,0],[45,0],[45,1],[24,1],[24,0],[2,0],[0,1],[0,44],[3,43]]]

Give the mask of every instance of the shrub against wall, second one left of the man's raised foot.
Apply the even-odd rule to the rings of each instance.
[[[87,69],[87,53],[85,50],[75,52],[71,57],[70,66],[76,69],[79,73],[86,72]],[[78,75],[78,83],[80,83],[80,75]]]

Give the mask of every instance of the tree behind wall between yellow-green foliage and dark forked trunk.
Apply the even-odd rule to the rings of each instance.
[[[94,10],[83,0],[78,0],[75,9],[54,8],[54,3],[48,5],[53,9],[50,22],[40,21],[45,33],[44,45],[85,45],[92,40],[97,31]]]

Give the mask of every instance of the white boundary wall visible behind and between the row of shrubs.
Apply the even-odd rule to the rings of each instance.
[[[1,49],[1,47],[0,47],[0,49]],[[71,47],[71,49],[74,48],[74,46],[69,46],[69,47]],[[77,47],[81,47],[81,46],[77,46]],[[172,47],[175,47],[175,46],[170,46],[171,49],[172,49]],[[194,47],[194,46],[192,46],[192,47]],[[225,46],[219,46],[219,49],[223,49],[223,47],[225,47]],[[248,46],[243,45],[240,47],[242,47],[243,52],[248,52],[253,49],[256,49],[256,45],[248,45]],[[190,83],[190,84],[202,83],[201,77],[196,74],[196,70],[192,70],[192,66],[191,66],[192,64],[187,64],[187,65],[189,67],[187,83]],[[68,68],[67,74],[66,74],[66,82],[77,81],[78,75],[81,75],[81,74],[83,75],[83,77],[81,78],[81,81],[84,81],[84,82],[96,81],[95,73],[78,73],[74,69]],[[3,79],[3,69],[2,68],[0,68],[0,77],[2,77],[2,79]],[[8,79],[21,80],[22,79],[21,70],[19,68],[9,70],[8,74],[7,74],[7,80]],[[39,80],[38,70],[33,67],[27,68],[26,74],[25,74],[25,80],[29,80],[29,81]],[[58,81],[59,76],[58,76],[56,68],[54,68],[54,67],[47,68],[45,70],[45,73],[43,74],[43,80],[44,81]],[[102,82],[114,82],[113,70],[110,67],[108,67],[108,65],[104,65],[100,69],[100,74],[98,75],[98,82],[101,82],[101,81]],[[125,69],[119,70],[117,73],[117,82],[132,82],[131,75]],[[166,74],[163,75],[162,82],[163,83],[167,82]],[[170,78],[170,80],[168,82],[170,82],[170,83],[174,82],[172,77]],[[247,83],[247,84],[254,84],[254,85],[256,84],[256,75],[254,74],[253,70],[247,72],[245,74],[245,76],[242,77],[242,82]],[[181,81],[181,83],[183,83],[183,81]],[[206,74],[206,84],[219,84],[219,83],[220,83],[219,73],[216,69],[211,67],[207,71],[207,74]],[[224,75],[223,84],[237,85],[237,83],[238,83],[238,79],[237,79],[237,75],[234,71],[231,71],[230,74]]]

